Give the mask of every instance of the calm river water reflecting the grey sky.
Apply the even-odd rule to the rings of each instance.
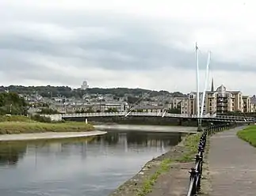
[[[1,142],[0,195],[106,196],[183,134],[108,130],[90,138]]]

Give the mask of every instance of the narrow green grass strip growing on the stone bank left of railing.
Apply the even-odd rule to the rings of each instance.
[[[139,190],[139,193],[136,194],[136,196],[146,196],[147,194],[149,194],[156,180],[159,178],[159,175],[168,172],[172,163],[185,163],[193,161],[195,154],[197,153],[197,147],[200,137],[201,134],[191,134],[185,137],[185,139],[181,143],[181,145],[184,146],[184,153],[181,153],[181,155],[174,160],[170,158],[162,160],[159,169],[143,182],[143,187]]]

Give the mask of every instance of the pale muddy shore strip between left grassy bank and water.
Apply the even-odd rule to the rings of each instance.
[[[39,134],[3,134],[0,135],[0,141],[26,141],[40,139],[61,139],[61,138],[82,138],[106,134],[105,131],[93,130],[87,132],[46,132]]]

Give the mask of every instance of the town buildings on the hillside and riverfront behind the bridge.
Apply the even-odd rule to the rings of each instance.
[[[93,112],[169,112],[184,115],[197,114],[197,92],[188,94],[163,92],[159,95],[151,95],[151,91],[143,93],[124,93],[122,96],[112,93],[89,93],[86,89],[89,85],[83,81],[81,89],[84,94],[81,97],[42,96],[39,92],[30,95],[19,93],[29,104],[29,113],[93,113]],[[107,90],[107,89],[106,89]],[[45,94],[45,93],[44,93]],[[203,92],[200,95],[200,110],[202,107]],[[242,91],[226,89],[224,85],[212,88],[205,92],[204,114],[227,114],[243,112],[256,112],[256,96],[243,95]]]

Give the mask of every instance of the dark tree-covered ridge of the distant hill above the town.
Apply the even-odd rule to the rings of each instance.
[[[91,89],[71,89],[68,86],[22,86],[22,85],[10,85],[10,86],[0,86],[0,92],[17,92],[20,94],[32,95],[36,91],[40,96],[51,97],[51,96],[66,96],[66,97],[82,97],[84,94],[113,94],[114,96],[124,96],[125,94],[132,96],[141,96],[144,93],[150,93],[150,96],[185,96],[181,92],[167,92],[167,91],[151,91],[149,89],[128,89],[128,88],[91,88]]]

